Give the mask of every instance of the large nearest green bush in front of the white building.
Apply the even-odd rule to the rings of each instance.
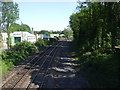
[[[36,51],[38,51],[38,49],[35,44],[27,41],[19,42],[13,46],[12,49],[3,51],[1,53],[1,57],[4,64],[6,64],[3,64],[3,67],[6,68],[3,71],[16,65],[18,62],[24,60],[28,55],[35,53]]]

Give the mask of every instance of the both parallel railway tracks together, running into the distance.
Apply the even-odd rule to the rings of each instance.
[[[54,55],[57,51],[57,47],[60,44],[61,43],[58,43],[57,45],[55,44],[45,49],[43,52],[39,53],[39,55],[35,56],[24,67],[22,67],[11,79],[9,79],[2,86],[2,89],[10,88],[12,90],[14,88],[21,88],[23,82],[26,80],[28,75],[34,70],[38,70],[34,75],[34,78],[31,79],[31,82],[27,85],[27,87],[22,87],[22,88],[27,88],[27,89],[32,88],[31,84],[36,80],[38,74],[40,74],[40,71],[43,71],[41,73],[42,75],[41,87],[42,87],[44,83],[45,75],[47,74],[50,64],[52,63]]]

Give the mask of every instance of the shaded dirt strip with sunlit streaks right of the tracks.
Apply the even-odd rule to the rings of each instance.
[[[59,49],[55,62],[46,77],[44,88],[85,88],[88,86],[87,81],[76,73],[78,65],[68,54],[70,43],[64,42]]]

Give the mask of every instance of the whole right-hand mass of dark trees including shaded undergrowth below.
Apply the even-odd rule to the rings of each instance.
[[[119,87],[120,2],[80,3],[70,16],[79,72],[92,88]]]

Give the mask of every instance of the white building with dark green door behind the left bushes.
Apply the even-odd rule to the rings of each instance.
[[[2,35],[2,47],[6,49],[8,35],[7,33],[1,33],[1,35]],[[21,41],[29,41],[31,43],[36,42],[36,36],[34,34],[31,34],[25,31],[13,32],[10,34],[10,37],[11,37],[12,45],[16,44],[17,42],[21,42]]]

